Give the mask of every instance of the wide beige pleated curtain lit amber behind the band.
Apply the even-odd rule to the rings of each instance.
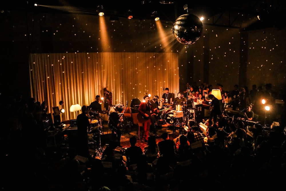
[[[177,53],[30,54],[29,67],[32,97],[46,101],[48,113],[52,107],[61,109],[63,101],[62,121],[76,118],[69,112],[72,104],[90,105],[105,87],[113,94],[113,105],[128,101],[129,107],[132,99],[143,101],[146,94],[160,97],[163,87],[174,96],[179,90]]]

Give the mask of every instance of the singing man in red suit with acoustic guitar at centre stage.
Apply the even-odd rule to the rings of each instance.
[[[140,119],[140,117],[138,117],[138,120],[141,120],[143,123],[141,141],[148,142],[149,129],[151,125],[151,114],[153,112],[153,109],[151,103],[149,102],[149,96],[145,95],[143,99],[145,100],[145,102],[141,102],[138,109],[138,114],[142,116],[141,119],[143,119],[143,121]]]

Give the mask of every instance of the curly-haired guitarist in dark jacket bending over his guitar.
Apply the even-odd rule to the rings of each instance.
[[[118,103],[115,105],[115,107],[112,107],[109,111],[109,117],[108,117],[108,127],[116,132],[116,141],[117,145],[119,147],[122,147],[120,145],[120,138],[122,132],[119,129],[120,123],[122,122],[121,116],[119,116],[118,112],[121,113],[124,109],[124,106],[121,103]]]

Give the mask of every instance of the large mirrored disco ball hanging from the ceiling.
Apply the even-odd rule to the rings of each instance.
[[[173,25],[173,34],[182,44],[194,44],[202,34],[202,21],[192,14],[178,17]]]

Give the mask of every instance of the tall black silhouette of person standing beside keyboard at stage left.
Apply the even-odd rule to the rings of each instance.
[[[76,124],[78,126],[77,133],[77,146],[76,151],[78,155],[83,157],[90,157],[88,147],[88,129],[91,125],[88,120],[89,106],[82,106],[82,113],[76,118]]]

